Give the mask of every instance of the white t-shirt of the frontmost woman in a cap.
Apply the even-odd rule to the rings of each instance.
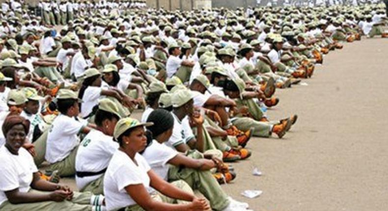
[[[137,164],[124,152],[117,150],[104,176],[104,194],[107,210],[117,210],[136,202],[125,190],[128,185],[142,184],[150,191],[150,178],[148,171],[151,170],[147,161],[140,155],[135,155]]]

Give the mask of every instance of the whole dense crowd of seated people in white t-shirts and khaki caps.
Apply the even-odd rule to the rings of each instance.
[[[276,90],[313,77],[343,42],[388,37],[384,4],[38,5],[1,7],[4,211],[248,210],[220,185],[237,175],[230,162],[256,153],[252,136],[282,138],[296,123],[267,115]]]

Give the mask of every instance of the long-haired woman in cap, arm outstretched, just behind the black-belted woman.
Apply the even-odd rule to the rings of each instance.
[[[127,96],[117,90],[102,87],[101,73],[95,69],[90,68],[84,72],[84,79],[82,87],[78,93],[78,98],[82,99],[80,104],[81,116],[87,118],[93,110],[93,107],[98,104],[98,100],[102,96],[109,96],[117,99],[123,106],[134,106],[133,101]]]

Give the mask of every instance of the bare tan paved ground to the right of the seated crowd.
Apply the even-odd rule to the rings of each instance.
[[[238,176],[223,189],[255,211],[387,210],[387,47],[388,39],[345,44],[307,86],[277,91],[268,116],[297,113],[297,124],[281,140],[252,139],[252,157],[233,164]],[[252,176],[254,167],[263,176]],[[247,199],[246,189],[264,192]]]

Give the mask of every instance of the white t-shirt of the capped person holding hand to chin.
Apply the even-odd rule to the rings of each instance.
[[[189,140],[194,138],[193,131],[189,124],[189,117],[183,118],[182,122],[172,113],[174,117],[174,127],[172,129],[172,135],[166,142],[166,146],[175,150],[175,147],[179,144],[186,144]]]

